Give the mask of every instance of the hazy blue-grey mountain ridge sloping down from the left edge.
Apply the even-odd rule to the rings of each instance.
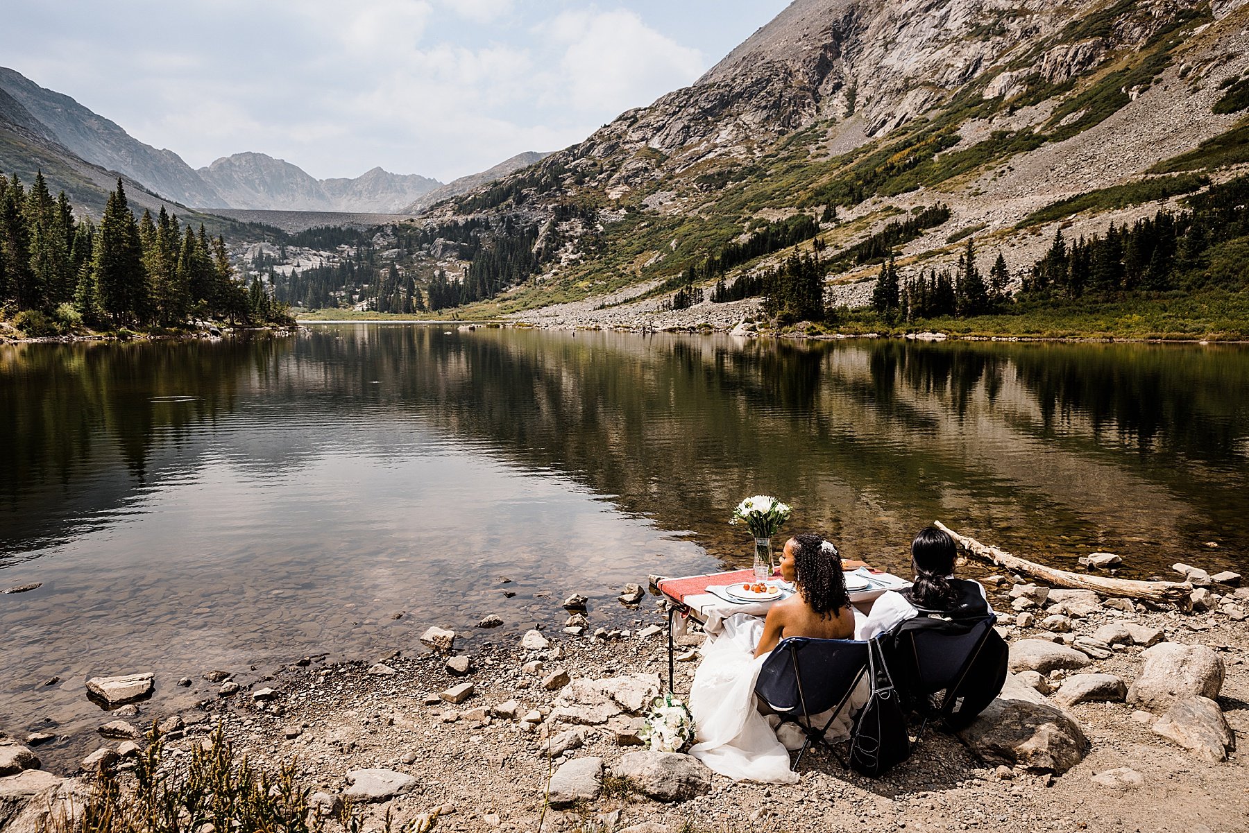
[[[17,100],[56,141],[82,160],[125,174],[175,202],[194,206],[220,202],[212,187],[177,154],[145,145],[70,96],[46,90],[7,67],[0,67],[0,90]]]

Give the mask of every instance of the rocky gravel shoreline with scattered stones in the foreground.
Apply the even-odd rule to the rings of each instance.
[[[70,778],[37,768],[51,736],[0,739],[0,828],[36,833],[56,796],[81,794],[86,772],[131,766],[140,727],[159,721],[172,761],[219,722],[254,762],[297,758],[313,803],[356,803],[366,831],[383,829],[387,813],[448,832],[1240,831],[1249,588],[1187,569],[1189,609],[982,578],[1010,643],[1002,697],[960,737],[929,731],[876,781],[808,753],[793,787],[733,783],[643,749],[639,713],[667,668],[662,601],[585,611],[575,597],[552,601],[541,631],[491,614],[467,643],[433,627],[423,646],[375,662],[305,657],[262,677],[201,669],[177,681],[202,697],[181,713],[144,699],[150,674],[91,681],[84,696],[112,711]],[[637,588],[626,589],[632,604]],[[678,692],[702,641],[678,638]]]

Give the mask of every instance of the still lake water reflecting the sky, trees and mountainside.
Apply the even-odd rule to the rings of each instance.
[[[428,624],[471,649],[572,592],[628,624],[626,582],[747,563],[727,521],[758,492],[898,571],[939,518],[1068,568],[1244,572],[1247,463],[1245,347],[411,325],[0,347],[0,589],[42,582],[0,596],[0,729],[94,731],[96,674],[155,672],[145,719],[210,668],[375,658]]]

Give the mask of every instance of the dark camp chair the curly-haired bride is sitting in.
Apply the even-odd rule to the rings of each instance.
[[[793,769],[812,743],[831,748],[824,732],[846,708],[864,673],[867,642],[856,639],[788,637],[768,654],[754,693],[781,716],[782,723],[797,724],[806,736]],[[828,721],[822,727],[812,726],[812,716],[828,709],[833,709]]]

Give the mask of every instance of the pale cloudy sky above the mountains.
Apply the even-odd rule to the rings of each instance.
[[[442,181],[694,81],[788,0],[7,4],[0,65],[191,166]]]

